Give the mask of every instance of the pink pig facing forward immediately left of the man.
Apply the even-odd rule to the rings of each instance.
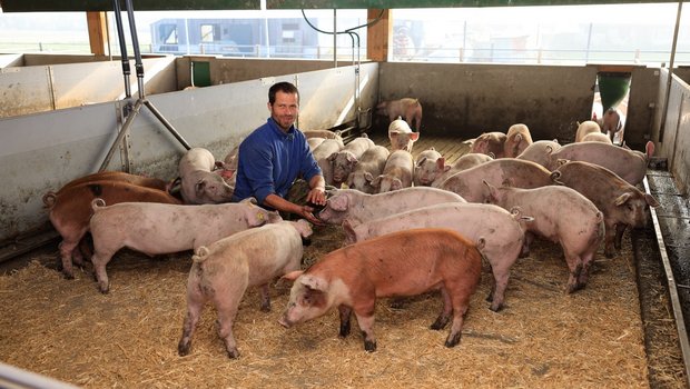
[[[191,148],[179,161],[179,177],[185,203],[203,205],[230,201],[234,188],[220,174],[214,174],[216,160],[210,151]]]

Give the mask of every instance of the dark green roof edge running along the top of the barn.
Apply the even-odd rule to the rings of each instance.
[[[670,0],[266,0],[268,9],[392,9],[661,3]],[[125,9],[125,0],[120,1]],[[111,0],[0,0],[3,12],[111,11]],[[139,11],[257,10],[259,0],[132,0]]]

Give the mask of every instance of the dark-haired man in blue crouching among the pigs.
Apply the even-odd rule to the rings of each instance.
[[[312,223],[314,208],[285,199],[296,178],[309,186],[307,203],[325,206],[325,181],[302,131],[295,128],[299,114],[299,92],[289,82],[268,90],[270,118],[239,144],[237,182],[233,201],[254,197],[265,208],[298,215]]]

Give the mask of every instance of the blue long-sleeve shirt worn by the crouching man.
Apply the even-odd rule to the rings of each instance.
[[[285,198],[297,177],[309,182],[322,173],[304,133],[295,126],[285,133],[272,118],[239,144],[238,157],[233,201],[254,197],[263,205],[268,194]]]

